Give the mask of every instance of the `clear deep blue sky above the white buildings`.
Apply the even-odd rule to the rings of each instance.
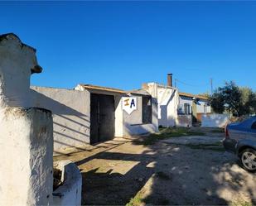
[[[225,80],[256,90],[256,2],[0,2],[0,33],[37,50],[31,84],[210,91]]]

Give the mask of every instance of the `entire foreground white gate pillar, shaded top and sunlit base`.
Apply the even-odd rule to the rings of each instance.
[[[0,36],[0,205],[50,205],[53,187],[51,112],[30,108],[36,50]]]

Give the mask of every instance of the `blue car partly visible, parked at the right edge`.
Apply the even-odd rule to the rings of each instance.
[[[256,117],[228,124],[223,145],[239,157],[245,170],[256,171]]]

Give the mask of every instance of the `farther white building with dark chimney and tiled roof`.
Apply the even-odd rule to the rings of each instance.
[[[191,93],[180,93],[172,86],[172,74],[167,74],[167,85],[142,84],[157,102],[158,124],[162,127],[191,127],[193,119],[200,122],[202,114],[209,114],[208,98]]]

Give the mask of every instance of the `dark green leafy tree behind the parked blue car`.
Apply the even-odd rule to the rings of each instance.
[[[211,107],[215,113],[227,111],[234,116],[254,114],[256,112],[256,93],[249,88],[239,88],[233,81],[226,82],[210,96]]]

